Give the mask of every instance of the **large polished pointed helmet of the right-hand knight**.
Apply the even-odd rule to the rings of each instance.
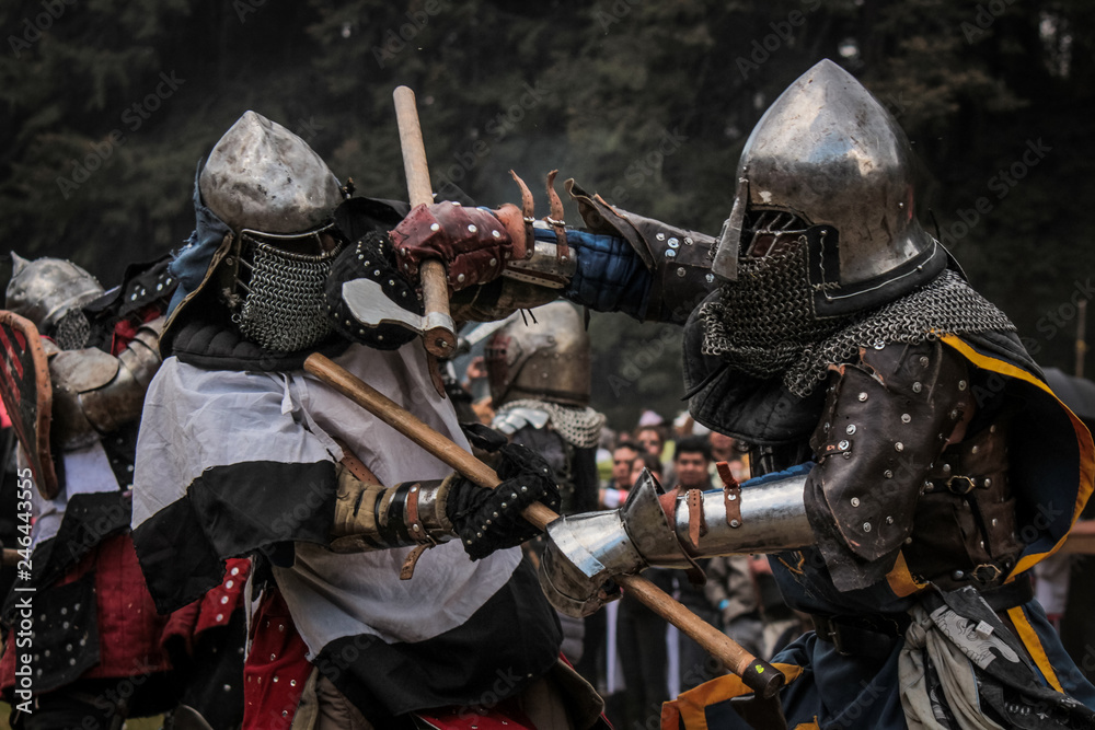
[[[817,63],[746,141],[713,270],[737,278],[747,213],[806,223],[816,311],[877,306],[936,276],[946,251],[917,220],[912,151],[894,116],[848,71]]]

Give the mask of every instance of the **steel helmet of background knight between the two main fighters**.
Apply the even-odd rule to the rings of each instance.
[[[531,310],[535,322],[516,318],[486,345],[494,407],[520,398],[589,405],[589,333],[568,302]]]

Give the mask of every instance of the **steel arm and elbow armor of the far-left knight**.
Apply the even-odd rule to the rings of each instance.
[[[79,449],[140,418],[145,393],[160,369],[164,317],[148,322],[117,357],[96,348],[62,350],[49,360],[54,436]]]

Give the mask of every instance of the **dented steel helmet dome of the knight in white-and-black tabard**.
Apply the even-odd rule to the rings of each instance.
[[[338,181],[297,135],[245,112],[209,153],[198,177],[201,199],[239,233],[301,233],[331,220]]]

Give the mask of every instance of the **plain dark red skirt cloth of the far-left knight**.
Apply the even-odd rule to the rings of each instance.
[[[84,677],[119,677],[151,674],[171,669],[160,647],[169,621],[155,612],[152,596],[128,534],[115,535],[91,551],[65,578],[65,586],[95,570],[95,607],[99,612],[100,662]],[[8,646],[13,646],[8,642]],[[15,652],[0,660],[0,687],[15,682]]]

